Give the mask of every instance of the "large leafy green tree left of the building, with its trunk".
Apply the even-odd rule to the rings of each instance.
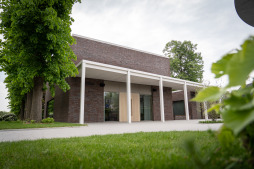
[[[47,83],[70,87],[65,79],[78,71],[70,45],[74,43],[71,10],[80,0],[2,0],[0,71],[5,71],[11,110],[25,118],[42,119],[42,95]]]

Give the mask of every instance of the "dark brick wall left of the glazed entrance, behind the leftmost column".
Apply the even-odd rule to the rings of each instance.
[[[54,119],[59,122],[79,122],[80,78],[68,78],[71,89],[64,93],[56,89]],[[85,87],[85,122],[104,122],[103,80],[86,79]]]

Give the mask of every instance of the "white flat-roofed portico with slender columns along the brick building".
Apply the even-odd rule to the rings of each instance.
[[[127,122],[131,123],[131,84],[142,84],[159,86],[160,95],[160,114],[161,121],[165,121],[164,116],[164,95],[163,87],[170,87],[174,90],[184,91],[184,105],[186,120],[189,120],[189,105],[188,105],[188,91],[197,91],[203,88],[200,83],[195,83],[191,81],[176,79],[168,76],[163,76],[159,74],[147,73],[143,71],[128,69],[119,66],[113,66],[109,64],[103,64],[94,61],[81,60],[77,65],[79,70],[78,77],[81,77],[80,86],[80,116],[79,123],[84,124],[84,113],[85,113],[85,79],[102,79],[115,82],[126,83],[126,99],[127,99]],[[204,106],[206,107],[206,106]],[[206,111],[205,111],[206,112]],[[207,118],[207,114],[205,115]]]

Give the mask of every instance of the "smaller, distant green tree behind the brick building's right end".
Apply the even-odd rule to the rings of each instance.
[[[169,57],[172,77],[194,82],[203,80],[204,62],[196,50],[197,44],[191,41],[172,40],[166,44],[163,53]]]

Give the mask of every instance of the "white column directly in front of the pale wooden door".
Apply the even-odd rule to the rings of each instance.
[[[126,77],[126,93],[127,93],[127,120],[131,123],[131,72],[128,70]]]

